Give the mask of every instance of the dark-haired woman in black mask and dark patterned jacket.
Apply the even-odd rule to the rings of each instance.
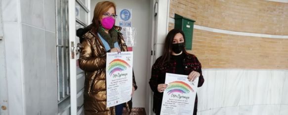
[[[166,73],[187,75],[189,81],[199,77],[198,87],[201,87],[204,83],[201,63],[195,55],[186,52],[185,36],[181,30],[173,29],[168,33],[165,39],[164,53],[152,67],[149,84],[154,92],[153,111],[156,115],[160,115],[163,92],[167,87],[167,84],[165,84]],[[196,114],[197,95],[193,115]]]

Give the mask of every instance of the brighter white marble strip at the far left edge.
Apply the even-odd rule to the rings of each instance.
[[[23,72],[19,17],[17,0],[2,0],[3,39],[6,56],[6,77],[8,88],[7,111],[11,115],[24,115]],[[15,85],[19,84],[19,85]]]

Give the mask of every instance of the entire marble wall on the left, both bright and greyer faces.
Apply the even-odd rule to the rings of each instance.
[[[1,8],[9,114],[55,115],[55,0],[2,0]]]

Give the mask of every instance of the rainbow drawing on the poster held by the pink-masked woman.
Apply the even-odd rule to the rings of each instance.
[[[115,59],[109,63],[108,73],[112,76],[115,72],[121,72],[130,68],[130,65],[122,59]]]

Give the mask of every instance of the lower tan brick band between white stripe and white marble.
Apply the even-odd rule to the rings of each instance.
[[[192,52],[203,68],[288,69],[288,39],[227,35],[194,29]]]

